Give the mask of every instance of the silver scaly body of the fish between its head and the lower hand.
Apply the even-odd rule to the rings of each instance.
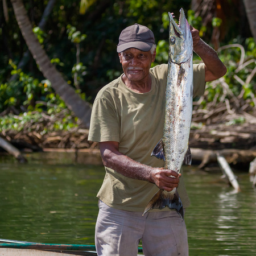
[[[184,154],[187,152],[192,117],[192,57],[185,63],[170,64],[166,92],[166,115],[163,132],[165,168],[180,171]],[[179,69],[183,69],[183,79],[179,79]]]

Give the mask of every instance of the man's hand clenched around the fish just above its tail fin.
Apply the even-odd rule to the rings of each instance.
[[[180,176],[181,174],[164,168],[152,168],[151,170],[151,182],[166,191],[172,191],[178,187]]]

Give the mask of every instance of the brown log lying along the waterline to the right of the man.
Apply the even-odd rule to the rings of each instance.
[[[240,150],[226,148],[223,150],[205,150],[203,148],[191,148],[192,160],[200,161],[199,168],[205,168],[210,163],[217,163],[217,152],[225,157],[229,164],[249,164],[256,158],[256,150]]]

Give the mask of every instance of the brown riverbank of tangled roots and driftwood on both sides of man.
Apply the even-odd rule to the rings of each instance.
[[[16,133],[6,130],[1,137],[18,148],[20,152],[55,151],[82,152],[90,158],[100,161],[98,143],[88,142],[88,129],[82,124],[69,131],[53,131],[40,133],[38,130],[27,128]],[[249,164],[256,158],[256,129],[254,124],[241,125],[204,125],[200,129],[191,129],[189,146],[192,151],[193,164],[205,168],[217,163],[217,154],[224,155],[229,164],[249,168]],[[2,152],[5,152],[2,150]]]

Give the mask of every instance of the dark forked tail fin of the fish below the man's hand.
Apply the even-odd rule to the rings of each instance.
[[[171,210],[176,210],[179,213],[181,220],[184,218],[183,205],[181,203],[179,193],[175,189],[175,193],[159,189],[157,193],[152,197],[150,202],[144,209],[142,216],[151,209],[163,209],[169,207]]]

